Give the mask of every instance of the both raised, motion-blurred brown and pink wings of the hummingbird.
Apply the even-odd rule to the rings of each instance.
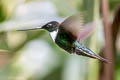
[[[96,26],[95,22],[85,24],[84,18],[83,13],[70,16],[60,24],[60,28],[71,33],[76,40],[84,40],[91,35]]]

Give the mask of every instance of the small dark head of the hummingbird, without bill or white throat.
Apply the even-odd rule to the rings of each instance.
[[[45,24],[44,26],[42,26],[42,29],[46,29],[49,32],[53,32],[56,31],[58,27],[59,27],[59,23],[57,21],[51,21]]]

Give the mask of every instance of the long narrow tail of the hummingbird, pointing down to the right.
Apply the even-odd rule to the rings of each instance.
[[[95,59],[98,59],[98,60],[103,61],[105,63],[108,62],[107,59],[95,54],[93,51],[86,48],[84,45],[80,44],[78,41],[74,42],[74,47],[75,47],[75,53],[78,55],[83,55],[83,56],[95,58]]]

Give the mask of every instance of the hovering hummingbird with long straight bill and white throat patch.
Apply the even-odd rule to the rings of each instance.
[[[83,27],[83,29],[82,29]],[[76,14],[65,19],[61,24],[57,21],[50,21],[41,27],[18,29],[18,31],[28,31],[36,29],[45,29],[49,31],[52,40],[68,53],[87,56],[107,63],[108,60],[95,54],[92,50],[80,43],[82,38],[90,34],[90,27],[83,24],[83,16]],[[54,36],[52,34],[55,34]]]

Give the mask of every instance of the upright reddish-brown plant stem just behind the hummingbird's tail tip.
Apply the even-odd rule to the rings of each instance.
[[[104,37],[105,47],[103,50],[103,56],[108,59],[111,63],[102,65],[102,71],[100,80],[113,80],[114,79],[114,56],[113,56],[113,40],[111,32],[111,24],[109,21],[109,5],[108,0],[102,0],[102,16],[104,24]]]

